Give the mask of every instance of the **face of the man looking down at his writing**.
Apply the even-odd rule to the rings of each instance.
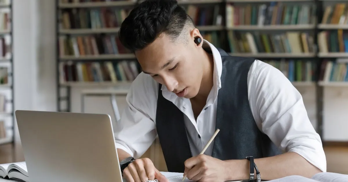
[[[203,66],[197,54],[193,41],[173,43],[166,34],[135,53],[144,73],[185,98],[195,97],[201,84]]]

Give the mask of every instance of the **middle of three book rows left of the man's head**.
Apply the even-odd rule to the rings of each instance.
[[[59,37],[60,56],[86,56],[101,54],[130,54],[116,34]],[[97,57],[96,57],[97,58]]]

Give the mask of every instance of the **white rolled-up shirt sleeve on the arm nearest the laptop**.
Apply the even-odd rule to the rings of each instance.
[[[126,96],[126,108],[116,122],[116,148],[135,158],[141,157],[157,136],[155,114],[158,86],[144,73],[132,83]]]

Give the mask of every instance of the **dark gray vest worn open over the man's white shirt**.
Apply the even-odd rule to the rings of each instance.
[[[257,127],[252,115],[247,76],[254,58],[234,57],[218,49],[222,58],[221,88],[217,96],[216,128],[212,157],[229,160],[275,156],[280,151]],[[169,172],[184,172],[192,157],[183,113],[158,89],[156,127]],[[211,145],[212,145],[211,144]],[[205,143],[204,143],[205,145]]]

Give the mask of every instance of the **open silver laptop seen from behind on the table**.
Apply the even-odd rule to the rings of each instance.
[[[30,182],[122,182],[109,115],[15,114]]]

